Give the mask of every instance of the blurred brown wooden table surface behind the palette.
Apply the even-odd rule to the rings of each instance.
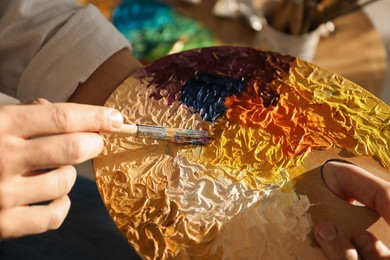
[[[205,25],[223,44],[255,47],[256,31],[243,18],[227,19],[212,14],[215,0],[199,5],[180,0],[167,2]],[[340,17],[334,24],[335,34],[320,40],[313,62],[379,96],[387,71],[386,49],[379,33],[363,11]]]

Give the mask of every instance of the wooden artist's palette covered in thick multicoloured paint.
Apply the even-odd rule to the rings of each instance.
[[[97,185],[118,228],[148,259],[321,256],[309,239],[310,196],[296,194],[290,180],[305,175],[310,156],[336,148],[390,167],[390,108],[277,53],[226,46],[166,56],[129,77],[106,105],[127,123],[204,129],[213,138],[183,146],[104,136]]]

